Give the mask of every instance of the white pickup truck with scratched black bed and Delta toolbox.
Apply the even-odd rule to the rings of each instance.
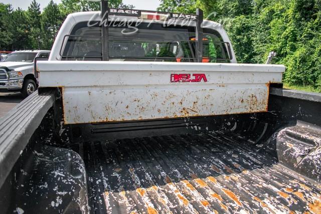
[[[216,23],[109,12],[142,25],[69,15],[39,94],[1,121],[4,213],[320,212],[319,94],[283,90],[282,65],[235,64]]]

